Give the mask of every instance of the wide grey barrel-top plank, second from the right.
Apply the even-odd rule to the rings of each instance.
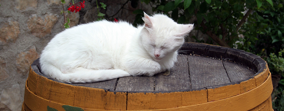
[[[191,88],[230,83],[221,60],[187,55]]]

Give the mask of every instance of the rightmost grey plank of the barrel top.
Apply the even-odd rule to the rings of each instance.
[[[223,61],[231,82],[242,81],[254,75],[254,71],[238,63]]]

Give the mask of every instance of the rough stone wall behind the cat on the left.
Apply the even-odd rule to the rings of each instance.
[[[66,0],[64,9],[72,0]],[[74,0],[75,3],[79,0]],[[133,22],[135,14],[128,0],[98,0],[107,5],[109,20]],[[127,2],[127,3],[126,3]],[[124,5],[124,9],[117,11]],[[60,14],[60,0],[0,0],[0,110],[21,110],[25,81],[29,65],[37,59],[57,33],[64,30],[63,15]],[[138,4],[136,9],[151,13],[146,4]],[[115,15],[115,13],[117,13]],[[80,12],[67,14],[71,26],[97,20],[96,0],[85,0],[85,8]]]

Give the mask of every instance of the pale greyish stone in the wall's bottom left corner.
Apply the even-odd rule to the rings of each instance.
[[[20,85],[13,84],[11,87],[5,88],[1,91],[0,96],[0,106],[4,106],[0,109],[2,110],[11,110],[18,111],[21,109],[22,99],[19,98],[20,94]]]

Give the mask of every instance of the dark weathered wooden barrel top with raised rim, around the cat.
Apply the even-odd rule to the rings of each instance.
[[[128,76],[70,85],[133,93],[202,90],[239,84],[254,78],[267,67],[266,62],[254,54],[204,43],[185,43],[177,60],[170,71],[155,76]],[[40,73],[39,59],[32,63],[31,68],[36,74],[51,79]]]

